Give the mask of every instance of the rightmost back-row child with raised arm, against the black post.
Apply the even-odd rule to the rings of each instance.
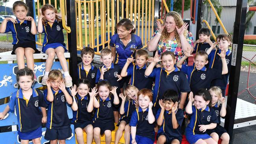
[[[221,58],[219,54],[221,51],[226,52],[225,58],[226,58],[226,64],[228,65],[228,73],[221,76],[221,79],[215,79],[211,82],[211,86],[219,86],[222,90],[222,96],[225,96],[226,91],[226,85],[228,83],[228,77],[230,74],[230,68],[231,68],[231,59],[232,59],[232,52],[229,50],[229,46],[232,44],[231,35],[218,35],[217,42],[219,45],[219,50],[213,48],[215,46],[212,46],[207,51],[208,59],[209,59],[209,68],[215,68],[218,70],[221,70],[223,63],[221,63]],[[225,64],[225,65],[226,65]]]

